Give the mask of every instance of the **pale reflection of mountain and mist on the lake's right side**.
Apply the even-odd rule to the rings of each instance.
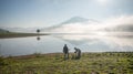
[[[122,35],[121,35],[122,36]],[[82,50],[88,51],[133,51],[133,38],[121,36],[108,36],[108,35],[55,35],[65,42],[71,43],[74,46],[79,46]]]

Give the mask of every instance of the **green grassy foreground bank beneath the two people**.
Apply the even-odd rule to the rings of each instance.
[[[66,61],[61,53],[1,57],[0,74],[133,74],[133,52],[72,55]]]

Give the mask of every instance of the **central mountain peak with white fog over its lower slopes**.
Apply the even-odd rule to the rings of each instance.
[[[92,19],[73,17],[60,24],[41,29],[41,31],[48,33],[83,33],[83,30],[89,30],[88,28],[90,25],[95,25],[98,23],[98,21]]]

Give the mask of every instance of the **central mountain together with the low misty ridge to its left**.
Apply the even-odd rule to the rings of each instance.
[[[93,24],[92,24],[93,23]],[[89,25],[95,25],[99,22],[92,19],[85,19],[81,17],[73,17],[64,22],[59,24],[42,28],[42,27],[32,27],[32,28],[19,28],[19,27],[3,27],[2,29],[11,31],[11,32],[37,32],[37,29],[40,29],[41,32],[44,33],[82,33],[83,30],[91,30]],[[94,28],[93,28],[94,29]]]

